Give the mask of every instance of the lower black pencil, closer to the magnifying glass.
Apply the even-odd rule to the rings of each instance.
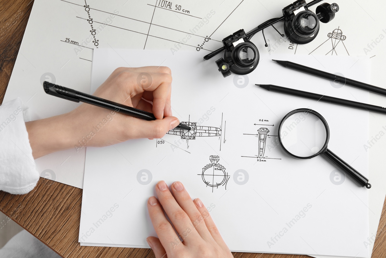
[[[351,100],[347,100],[347,99],[340,99],[337,97],[320,95],[320,94],[316,94],[316,93],[312,93],[312,92],[308,92],[308,91],[299,91],[299,90],[290,89],[290,88],[286,88],[286,87],[280,87],[280,86],[276,86],[276,85],[260,85],[260,84],[255,84],[255,85],[259,86],[263,89],[266,89],[268,91],[284,93],[284,94],[297,96],[297,97],[305,97],[307,99],[315,99],[317,101],[323,101],[323,102],[337,104],[337,105],[346,106],[346,107],[350,107],[350,108],[367,110],[369,112],[386,114],[386,108],[383,108],[380,106],[374,106],[374,105],[356,102],[356,101],[351,101]]]

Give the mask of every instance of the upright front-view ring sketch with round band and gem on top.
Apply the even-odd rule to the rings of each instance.
[[[211,155],[209,160],[210,164],[203,167],[202,173],[198,175],[201,176],[202,181],[207,187],[212,187],[212,193],[213,188],[218,188],[218,186],[225,186],[225,190],[227,190],[227,183],[230,176],[225,172],[225,167],[218,164],[220,157]]]

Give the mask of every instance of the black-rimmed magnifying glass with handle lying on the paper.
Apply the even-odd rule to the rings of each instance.
[[[308,108],[289,112],[280,122],[278,137],[283,149],[292,157],[311,159],[323,154],[359,185],[371,188],[369,179],[327,149],[330,129],[327,121],[318,112]]]

